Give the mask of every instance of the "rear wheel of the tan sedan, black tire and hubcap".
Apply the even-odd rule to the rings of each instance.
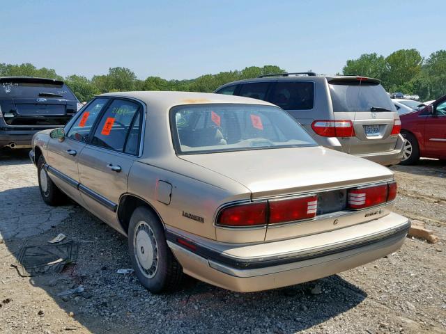
[[[128,251],[134,272],[148,291],[160,294],[178,289],[183,267],[167,246],[162,223],[147,207],[137,207],[130,218]]]

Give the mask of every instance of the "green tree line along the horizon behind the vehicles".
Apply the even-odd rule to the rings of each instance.
[[[129,68],[110,67],[107,74],[94,75],[89,79],[77,74],[63,78],[52,68],[37,68],[31,63],[21,65],[0,63],[0,77],[31,76],[64,80],[82,102],[101,93],[128,90],[183,90],[209,93],[231,81],[284,72],[286,71],[279,66],[265,65],[218,74],[204,74],[190,80],[167,80],[160,77],[147,77],[141,80]],[[434,100],[446,94],[446,50],[433,52],[428,58],[423,58],[416,49],[401,49],[387,57],[376,53],[362,54],[359,58],[349,59],[342,74],[373,77],[380,79],[388,92],[417,94],[421,100]]]

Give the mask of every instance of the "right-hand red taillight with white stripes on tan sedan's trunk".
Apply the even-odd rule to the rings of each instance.
[[[386,183],[378,186],[348,189],[347,206],[349,209],[364,209],[364,207],[383,204],[387,202],[387,188]]]

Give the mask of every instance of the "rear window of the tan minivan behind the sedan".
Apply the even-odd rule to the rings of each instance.
[[[334,112],[371,111],[372,107],[394,111],[392,100],[380,84],[363,81],[332,82],[330,95]]]

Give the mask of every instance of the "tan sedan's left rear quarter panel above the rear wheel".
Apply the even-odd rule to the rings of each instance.
[[[165,228],[174,227],[201,237],[226,242],[263,241],[266,228],[254,232],[245,230],[234,233],[233,230],[220,228],[217,232],[214,225],[215,214],[221,205],[250,199],[251,193],[245,186],[205,168],[199,168],[178,158],[177,160],[180,170],[176,171],[136,161],[130,171],[128,193],[146,200],[156,210]],[[189,175],[185,175],[184,170],[181,170],[181,166],[185,164],[190,164]],[[214,181],[210,182],[212,178]],[[169,205],[158,199],[157,187],[160,181],[172,185]],[[183,213],[201,217],[203,221],[187,218]]]

